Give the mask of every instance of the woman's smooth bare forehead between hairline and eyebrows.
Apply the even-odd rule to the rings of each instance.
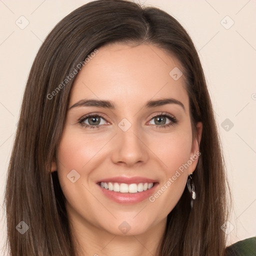
[[[154,45],[106,45],[78,72],[70,105],[83,98],[108,99],[118,106],[161,97],[173,97],[185,105],[188,96],[181,70],[176,58]]]

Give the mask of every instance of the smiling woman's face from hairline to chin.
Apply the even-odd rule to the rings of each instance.
[[[165,224],[198,159],[180,70],[156,46],[111,44],[79,71],[52,162],[75,226],[134,235]]]

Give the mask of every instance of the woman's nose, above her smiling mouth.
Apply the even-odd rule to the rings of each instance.
[[[131,125],[127,131],[118,128],[112,143],[111,160],[116,164],[131,167],[148,160],[149,149],[145,138],[142,131],[139,133],[135,125]]]

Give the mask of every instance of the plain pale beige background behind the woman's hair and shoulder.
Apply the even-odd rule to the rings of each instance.
[[[29,69],[39,46],[53,26],[70,11],[86,2],[88,1],[0,0],[0,248],[3,246],[6,232],[5,213],[2,208],[6,169]],[[214,104],[234,199],[230,224],[224,229],[228,232],[228,244],[254,236],[256,2],[140,2],[158,6],[173,15],[192,37]],[[24,17],[20,17],[22,15]],[[229,17],[226,17],[227,15]],[[22,27],[28,21],[29,24]],[[222,123],[226,118],[229,119],[227,123]],[[230,126],[230,121],[233,127]]]

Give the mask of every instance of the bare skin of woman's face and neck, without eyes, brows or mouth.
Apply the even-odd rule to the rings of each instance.
[[[58,171],[79,255],[158,255],[167,214],[183,193],[198,158],[154,202],[146,198],[135,204],[117,203],[102,194],[96,181],[143,176],[157,180],[160,189],[199,151],[202,124],[197,123],[193,138],[184,77],[174,80],[169,75],[174,67],[182,70],[175,58],[148,44],[131,47],[115,43],[98,50],[77,74],[69,107],[90,98],[111,100],[116,109],[70,108],[51,171]],[[180,101],[184,109],[175,103],[143,108],[148,100],[167,96]],[[171,122],[167,117],[164,124],[155,121],[153,116],[162,112],[178,122],[159,127]],[[103,115],[99,128],[79,124],[88,113]],[[127,131],[118,126],[123,118],[131,124]],[[74,183],[67,178],[72,169],[80,175]],[[123,221],[130,226],[125,234],[118,228]]]

